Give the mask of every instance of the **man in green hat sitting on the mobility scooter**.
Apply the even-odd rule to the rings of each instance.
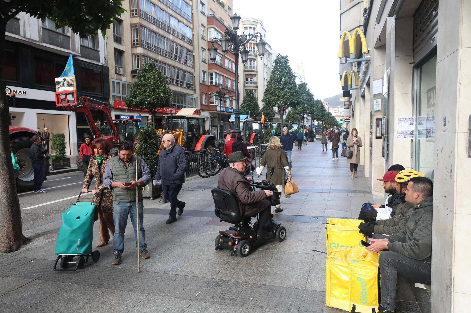
[[[269,234],[263,227],[268,224],[271,208],[268,196],[273,195],[270,190],[253,191],[250,183],[252,178],[246,178],[243,175],[245,171],[245,160],[242,152],[237,151],[229,156],[229,167],[223,169],[219,174],[218,188],[232,192],[239,202],[239,211],[242,213],[242,203],[245,204],[245,216],[247,221],[252,216],[260,213],[259,228],[257,229],[258,238],[270,238]]]

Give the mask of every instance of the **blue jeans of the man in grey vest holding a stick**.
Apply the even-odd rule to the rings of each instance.
[[[139,208],[139,251],[146,249],[147,244],[144,241],[146,231],[142,222],[144,219],[144,203],[138,202]],[[118,202],[113,203],[113,221],[114,221],[114,236],[113,236],[113,252],[124,251],[124,230],[128,224],[128,215],[131,218],[132,227],[134,228],[134,237],[136,238],[136,248],[138,247],[138,232],[136,229],[136,203],[132,202]]]

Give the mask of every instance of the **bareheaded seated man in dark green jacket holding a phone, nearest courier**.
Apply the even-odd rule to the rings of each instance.
[[[379,257],[381,272],[381,309],[396,309],[398,276],[414,282],[430,284],[432,254],[433,183],[426,177],[413,177],[406,189],[406,201],[414,204],[397,234],[384,239],[370,239],[371,252],[383,251]]]

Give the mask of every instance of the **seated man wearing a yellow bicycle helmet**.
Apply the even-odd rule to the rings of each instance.
[[[406,189],[407,183],[412,177],[423,177],[425,176],[421,172],[414,170],[404,170],[398,172],[396,175],[396,192],[398,198],[401,201],[399,203],[396,213],[390,219],[378,219],[369,223],[360,223],[358,228],[359,232],[365,236],[372,238],[386,238],[389,235],[397,234],[402,228],[404,228],[404,219],[410,208],[414,206],[412,203],[406,202]]]

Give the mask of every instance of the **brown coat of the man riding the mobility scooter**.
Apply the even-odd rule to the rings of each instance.
[[[249,181],[235,168],[226,167],[219,175],[218,188],[232,192],[239,202],[239,211],[242,213],[242,203],[245,205],[245,215],[255,216],[263,211],[270,202],[265,191],[253,191]]]

